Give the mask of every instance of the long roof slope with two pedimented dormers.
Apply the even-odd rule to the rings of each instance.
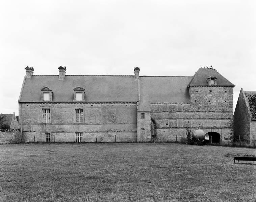
[[[137,81],[133,76],[79,76],[58,75],[26,78],[20,102],[40,102],[41,89],[48,87],[53,92],[52,102],[73,102],[74,88],[85,89],[86,102],[136,102]]]

